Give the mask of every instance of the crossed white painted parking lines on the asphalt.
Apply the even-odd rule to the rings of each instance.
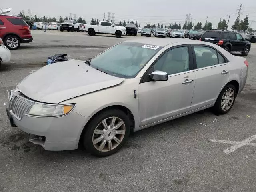
[[[242,141],[229,141],[229,140],[217,140],[217,139],[211,139],[214,143],[227,143],[227,144],[234,144],[233,146],[225,149],[223,152],[226,154],[230,154],[233,151],[237,150],[238,148],[248,145],[248,146],[256,146],[256,143],[250,143],[251,141],[256,140],[256,135],[250,136]]]

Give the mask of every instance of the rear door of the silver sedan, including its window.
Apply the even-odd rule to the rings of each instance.
[[[196,85],[191,111],[214,104],[228,82],[230,63],[210,46],[193,46],[196,58]]]

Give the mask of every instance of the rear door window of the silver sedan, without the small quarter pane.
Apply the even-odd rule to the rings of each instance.
[[[194,46],[197,68],[203,68],[218,64],[216,50],[210,47]]]

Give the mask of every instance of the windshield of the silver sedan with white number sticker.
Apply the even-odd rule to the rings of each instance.
[[[90,66],[113,76],[134,78],[161,48],[123,42],[93,58]]]

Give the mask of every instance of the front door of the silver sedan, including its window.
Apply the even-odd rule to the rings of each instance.
[[[149,74],[156,70],[167,72],[167,81],[148,79],[140,83],[140,126],[189,112],[195,86],[195,72],[190,72],[192,58],[189,50],[188,46],[171,48],[149,70]]]

